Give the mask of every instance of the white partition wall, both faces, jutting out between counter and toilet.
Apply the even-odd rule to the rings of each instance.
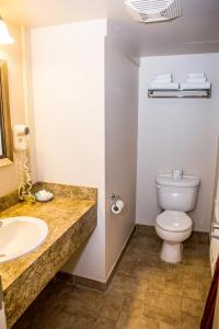
[[[35,177],[99,189],[97,228],[64,271],[102,282],[134,227],[138,112],[138,66],[106,32],[91,21],[31,33]],[[112,190],[126,202],[118,218]]]

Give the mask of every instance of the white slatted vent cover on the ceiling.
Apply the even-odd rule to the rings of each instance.
[[[181,15],[180,0],[125,0],[130,15],[138,22],[168,21]]]

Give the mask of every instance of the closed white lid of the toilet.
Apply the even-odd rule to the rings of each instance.
[[[191,217],[183,212],[166,211],[158,215],[157,224],[160,228],[170,231],[184,231],[193,226]]]

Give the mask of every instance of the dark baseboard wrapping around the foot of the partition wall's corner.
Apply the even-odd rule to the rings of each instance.
[[[124,256],[124,253],[125,253],[125,251],[126,251],[126,249],[129,245],[129,241],[130,241],[135,230],[136,230],[136,226],[134,226],[134,228],[130,232],[130,236],[127,239],[119,258],[117,259],[117,261],[114,264],[111,273],[107,276],[106,282],[96,281],[96,280],[88,279],[88,277],[82,277],[82,276],[66,273],[66,272],[58,272],[55,276],[55,280],[66,282],[68,284],[76,285],[76,286],[78,285],[78,286],[85,286],[85,287],[97,290],[97,291],[106,291],[110,283],[111,283],[111,281],[113,280],[113,276],[114,276],[114,274],[115,274],[115,272],[116,272],[116,270],[119,265],[119,262],[120,262],[120,260],[122,260],[122,258],[123,258],[123,256]]]

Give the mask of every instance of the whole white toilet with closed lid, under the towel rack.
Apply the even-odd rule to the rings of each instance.
[[[155,231],[163,240],[161,259],[169,263],[182,261],[182,242],[192,234],[193,222],[187,212],[194,209],[199,178],[183,175],[175,180],[172,174],[158,174],[158,203],[164,211],[155,219]]]

